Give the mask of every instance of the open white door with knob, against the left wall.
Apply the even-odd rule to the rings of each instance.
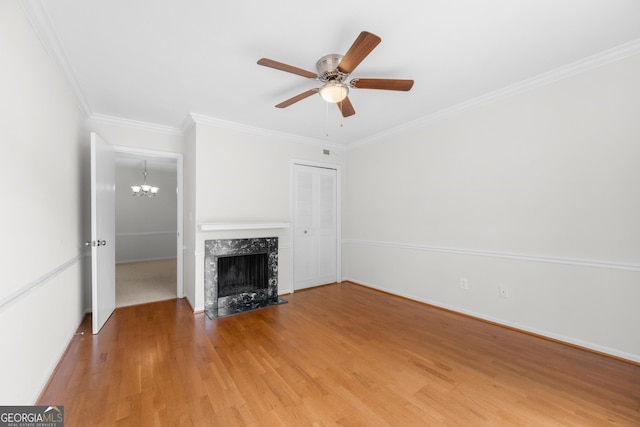
[[[115,152],[91,133],[92,329],[97,334],[116,307]]]

